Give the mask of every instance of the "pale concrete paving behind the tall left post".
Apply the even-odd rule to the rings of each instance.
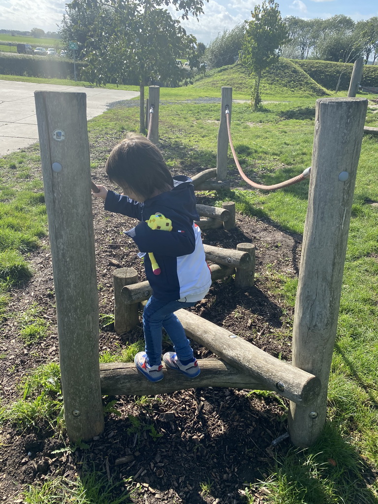
[[[88,119],[102,114],[110,103],[139,96],[137,91],[0,80],[0,156],[38,142],[34,91],[86,93]]]

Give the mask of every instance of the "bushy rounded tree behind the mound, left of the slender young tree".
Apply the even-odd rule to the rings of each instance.
[[[205,51],[205,60],[210,68],[232,65],[238,58],[244,38],[244,24],[232,30],[224,30],[210,42]]]

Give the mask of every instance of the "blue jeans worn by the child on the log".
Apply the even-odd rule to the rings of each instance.
[[[180,301],[161,301],[151,296],[143,310],[143,331],[146,342],[146,354],[150,366],[161,364],[162,328],[165,329],[173,343],[174,351],[179,360],[193,359],[193,350],[185,331],[174,311],[180,308],[194,306],[196,303]]]

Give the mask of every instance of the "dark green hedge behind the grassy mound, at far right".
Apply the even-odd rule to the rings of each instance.
[[[329,90],[336,90],[339,79],[338,90],[347,91],[349,89],[353,70],[352,63],[344,64],[314,59],[292,59],[291,61],[304,70],[314,81]],[[360,84],[366,87],[378,87],[378,67],[364,65]]]

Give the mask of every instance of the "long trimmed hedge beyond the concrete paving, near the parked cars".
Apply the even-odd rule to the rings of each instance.
[[[76,63],[77,80],[86,64]],[[39,77],[43,79],[74,79],[74,62],[49,56],[0,53],[0,74]]]

